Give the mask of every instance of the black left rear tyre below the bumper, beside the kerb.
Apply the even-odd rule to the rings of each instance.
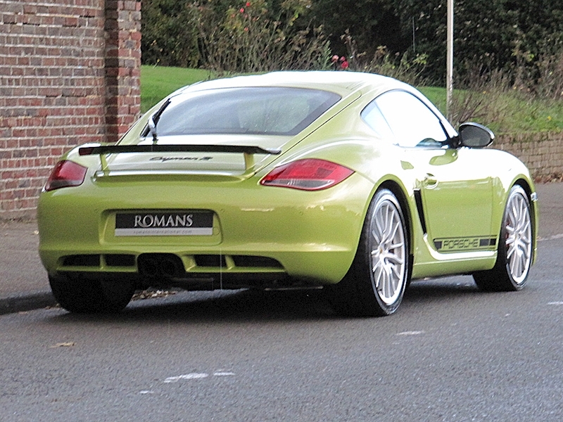
[[[49,276],[49,284],[58,304],[77,314],[120,312],[135,291],[134,283],[128,281],[83,280],[68,276]]]

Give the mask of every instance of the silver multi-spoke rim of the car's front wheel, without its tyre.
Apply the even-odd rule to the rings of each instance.
[[[524,193],[510,196],[505,221],[507,269],[515,283],[526,280],[532,257],[531,217]]]

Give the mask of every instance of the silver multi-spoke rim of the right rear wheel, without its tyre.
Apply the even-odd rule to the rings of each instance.
[[[384,196],[379,200],[369,231],[374,293],[386,305],[400,298],[406,271],[405,231],[394,199]]]

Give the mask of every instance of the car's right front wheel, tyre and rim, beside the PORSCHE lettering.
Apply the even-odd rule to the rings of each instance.
[[[502,217],[495,267],[473,274],[484,291],[521,290],[533,260],[533,226],[530,201],[524,189],[512,186]]]

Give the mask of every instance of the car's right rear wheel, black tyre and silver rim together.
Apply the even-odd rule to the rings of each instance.
[[[378,191],[369,204],[358,251],[348,274],[329,286],[339,314],[386,316],[395,312],[410,275],[405,218],[395,195]]]

